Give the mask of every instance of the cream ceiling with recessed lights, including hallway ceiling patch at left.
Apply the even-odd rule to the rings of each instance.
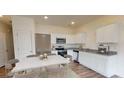
[[[103,16],[102,15],[48,15],[47,20],[44,19],[43,15],[25,15],[25,17],[33,18],[37,24],[76,28]],[[11,17],[3,16],[0,18],[0,21],[3,21],[4,23],[7,24],[11,24]],[[71,21],[74,21],[75,24],[71,25]]]

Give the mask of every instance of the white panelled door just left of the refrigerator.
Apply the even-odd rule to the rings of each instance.
[[[33,53],[32,51],[32,32],[17,31],[18,57],[26,57]]]

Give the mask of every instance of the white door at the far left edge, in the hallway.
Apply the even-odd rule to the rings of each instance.
[[[6,54],[5,33],[0,32],[0,67],[4,66],[5,62],[7,61]]]

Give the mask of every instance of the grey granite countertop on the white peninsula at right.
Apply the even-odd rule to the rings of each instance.
[[[100,53],[100,52],[98,52],[98,50],[95,50],[95,49],[74,49],[74,50],[78,50],[78,51],[82,51],[82,52],[88,52],[88,53],[93,53],[93,54],[99,54],[99,55],[103,55],[103,56],[117,55],[117,52],[115,52],[115,51],[109,51],[108,53]]]

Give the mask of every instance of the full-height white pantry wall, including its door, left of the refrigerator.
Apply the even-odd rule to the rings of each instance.
[[[35,54],[34,20],[22,16],[12,17],[15,58]]]

